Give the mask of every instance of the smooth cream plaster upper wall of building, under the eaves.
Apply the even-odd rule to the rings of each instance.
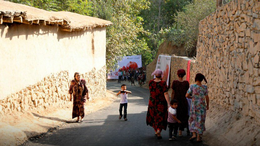
[[[56,26],[0,25],[0,100],[60,71],[86,73],[106,64],[106,30],[64,32]]]

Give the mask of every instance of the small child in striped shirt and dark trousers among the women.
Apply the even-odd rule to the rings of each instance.
[[[178,132],[179,123],[181,123],[180,120],[176,118],[177,111],[176,108],[178,107],[178,101],[177,100],[171,100],[170,102],[171,107],[168,111],[168,127],[169,127],[169,140],[177,139],[176,135]]]

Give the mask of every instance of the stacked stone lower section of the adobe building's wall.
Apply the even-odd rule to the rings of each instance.
[[[35,111],[48,107],[64,108],[69,103],[70,78],[68,71],[61,71],[44,77],[34,85],[8,95],[0,100],[0,117],[13,111]],[[104,97],[106,94],[106,66],[102,69],[81,74],[86,80],[89,96],[92,99]]]

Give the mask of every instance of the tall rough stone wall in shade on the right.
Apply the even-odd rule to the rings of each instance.
[[[260,1],[233,0],[199,24],[197,71],[211,102],[260,121]]]

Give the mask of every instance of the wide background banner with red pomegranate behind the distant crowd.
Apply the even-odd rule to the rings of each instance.
[[[120,68],[128,70],[129,68],[140,68],[142,67],[142,55],[135,56],[123,56],[122,61],[118,62],[119,68],[115,71],[108,73],[108,79],[118,79],[118,71]]]

